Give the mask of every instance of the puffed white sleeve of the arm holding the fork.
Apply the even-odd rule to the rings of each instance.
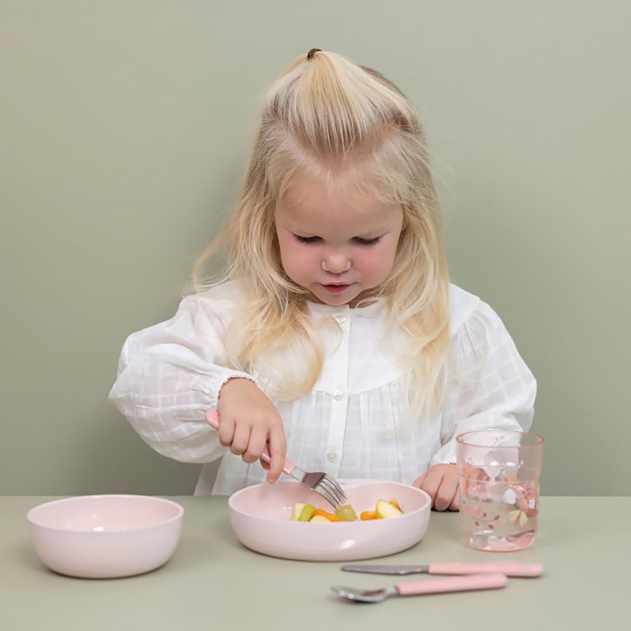
[[[225,448],[204,422],[223,384],[252,377],[226,367],[226,302],[188,297],[167,322],[131,335],[109,399],[156,452],[203,463]]]

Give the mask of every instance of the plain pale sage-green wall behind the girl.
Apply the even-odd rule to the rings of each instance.
[[[0,3],[0,493],[192,492],[107,402],[175,311],[294,55],[384,72],[426,122],[456,283],[538,378],[546,494],[628,494],[627,1]]]

